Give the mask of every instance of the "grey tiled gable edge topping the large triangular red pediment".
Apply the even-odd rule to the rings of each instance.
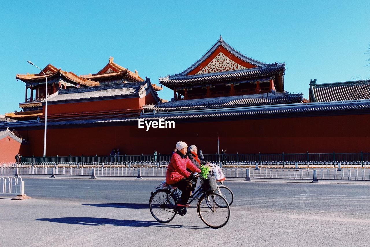
[[[225,48],[226,50],[228,50],[228,52],[230,52],[232,55],[238,57],[239,59],[241,59],[241,60],[243,60],[243,61],[245,61],[247,63],[250,63],[250,64],[255,65],[255,66],[265,66],[266,65],[266,63],[260,62],[258,60],[252,59],[251,57],[247,57],[247,56],[243,55],[238,50],[234,49],[228,43],[226,43],[222,39],[222,36],[220,35],[220,39],[215,43],[215,45],[212,46],[212,48],[210,50],[208,50],[208,52],[205,53],[205,55],[203,55],[198,61],[196,61],[195,63],[193,63],[190,67],[188,67],[187,69],[185,69],[184,71],[182,71],[181,73],[179,73],[179,75],[186,75],[189,72],[191,72],[192,70],[194,70],[202,62],[204,62],[209,56],[211,56],[212,53],[219,46],[222,46],[223,48]]]

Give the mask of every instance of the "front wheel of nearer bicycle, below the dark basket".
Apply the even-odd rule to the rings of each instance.
[[[220,207],[218,205],[226,205]],[[209,193],[198,201],[198,214],[204,224],[212,228],[220,228],[228,223],[230,207],[228,202],[219,194]]]

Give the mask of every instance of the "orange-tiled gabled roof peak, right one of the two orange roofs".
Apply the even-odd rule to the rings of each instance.
[[[128,82],[142,82],[142,79],[137,70],[135,73],[118,65],[117,63],[113,62],[113,57],[109,58],[109,62],[107,65],[104,66],[98,73],[89,74],[89,75],[80,75],[80,77],[85,79],[92,79],[92,80],[104,80],[105,78],[122,78],[126,79]]]

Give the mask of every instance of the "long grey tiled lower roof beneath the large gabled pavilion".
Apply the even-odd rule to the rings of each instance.
[[[255,105],[278,105],[287,103],[301,103],[304,100],[303,94],[289,93],[263,93],[254,95],[228,96],[206,99],[188,99],[172,101],[158,105],[145,105],[143,108],[148,111],[188,111],[196,109],[222,109]]]

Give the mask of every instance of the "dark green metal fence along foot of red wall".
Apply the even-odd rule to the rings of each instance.
[[[119,156],[55,156],[55,157],[21,157],[22,163],[26,162],[58,162],[58,163],[74,163],[74,162],[169,162],[171,159],[170,154],[158,154],[158,155],[119,155]],[[366,162],[370,161],[370,153],[358,152],[358,153],[301,153],[301,154],[204,154],[204,160],[207,161],[223,161],[223,162]]]

